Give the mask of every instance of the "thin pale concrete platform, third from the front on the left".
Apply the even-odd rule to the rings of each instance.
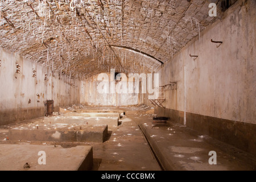
[[[108,125],[109,127],[118,126],[118,117],[89,117],[91,113],[68,113],[64,115],[57,115],[45,117],[44,123],[68,123],[68,124],[84,124],[90,126]]]

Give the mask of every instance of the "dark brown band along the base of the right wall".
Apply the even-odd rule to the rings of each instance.
[[[184,111],[158,108],[155,113],[183,125]],[[256,153],[256,125],[207,115],[186,113],[187,127],[216,138],[250,154]]]

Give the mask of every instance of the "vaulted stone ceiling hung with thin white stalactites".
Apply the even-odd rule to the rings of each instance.
[[[0,45],[85,79],[148,73],[212,24],[208,0],[1,0]]]

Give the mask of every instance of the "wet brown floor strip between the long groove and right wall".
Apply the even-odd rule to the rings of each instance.
[[[131,116],[131,115],[130,115]],[[152,116],[137,121],[164,170],[167,171],[254,171],[256,159],[244,151],[203,136],[174,123],[154,123]],[[216,151],[217,164],[209,164]]]

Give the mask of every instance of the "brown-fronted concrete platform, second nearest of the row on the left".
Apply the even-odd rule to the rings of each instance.
[[[37,129],[38,127],[38,129]],[[108,137],[108,125],[89,126],[78,124],[26,123],[9,129],[10,140],[56,142],[104,142]]]

